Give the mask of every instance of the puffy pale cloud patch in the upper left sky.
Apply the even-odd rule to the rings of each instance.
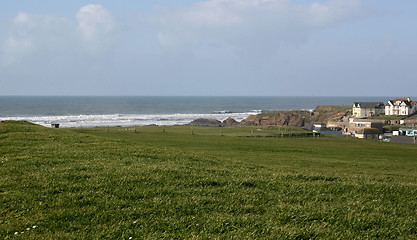
[[[116,44],[120,24],[101,5],[86,5],[75,18],[19,12],[0,40],[0,64],[20,63],[31,55],[100,54]]]

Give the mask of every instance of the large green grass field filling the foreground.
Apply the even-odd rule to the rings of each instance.
[[[304,133],[2,122],[0,238],[417,239],[417,145]]]

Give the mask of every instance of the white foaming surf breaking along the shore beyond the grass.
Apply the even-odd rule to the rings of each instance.
[[[17,116],[0,117],[0,120],[27,121],[50,127],[52,123],[60,127],[100,127],[100,126],[146,126],[146,125],[184,125],[198,118],[223,121],[229,117],[242,121],[257,111],[244,113],[219,112],[210,114],[102,114],[102,115],[60,115],[60,116]]]

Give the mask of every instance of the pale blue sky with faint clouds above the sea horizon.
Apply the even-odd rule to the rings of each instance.
[[[0,0],[0,95],[416,96],[415,0]]]

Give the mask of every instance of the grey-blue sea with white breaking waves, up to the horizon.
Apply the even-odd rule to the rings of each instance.
[[[161,97],[0,96],[0,121],[50,127],[184,125],[198,118],[237,121],[277,110],[313,110],[318,105],[386,102],[390,97]]]

